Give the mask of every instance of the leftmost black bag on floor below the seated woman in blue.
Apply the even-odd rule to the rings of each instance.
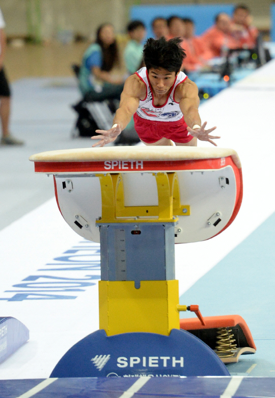
[[[74,127],[74,136],[92,137],[93,135],[98,135],[95,131],[99,127],[87,108],[87,103],[80,101],[76,105],[72,105],[72,108],[78,114]]]

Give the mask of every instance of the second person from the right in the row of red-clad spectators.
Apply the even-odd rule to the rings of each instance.
[[[239,41],[233,36],[231,19],[222,12],[215,17],[215,24],[202,36],[204,44],[210,49],[212,57],[220,57],[228,48],[239,48]]]

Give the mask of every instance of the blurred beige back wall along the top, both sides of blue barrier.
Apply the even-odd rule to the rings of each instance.
[[[0,0],[8,36],[23,36],[30,33],[28,7],[32,11],[32,20],[39,26],[43,39],[57,36],[60,30],[69,29],[84,36],[93,36],[99,24],[112,22],[118,33],[124,33],[132,5],[145,4],[215,4],[232,3],[230,0]],[[239,3],[239,2],[236,2]],[[254,23],[260,29],[268,29],[271,0],[244,0],[254,16]],[[41,23],[36,7],[41,9]]]

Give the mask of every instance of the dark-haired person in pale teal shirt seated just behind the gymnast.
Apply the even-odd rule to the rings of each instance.
[[[131,21],[128,23],[127,31],[130,36],[125,51],[124,61],[126,69],[130,74],[135,73],[143,64],[143,41],[146,35],[145,25],[142,21]]]

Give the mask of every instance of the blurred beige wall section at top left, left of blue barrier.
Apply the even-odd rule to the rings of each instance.
[[[39,24],[43,39],[50,39],[60,30],[72,30],[84,36],[93,36],[103,22],[114,24],[117,32],[124,32],[128,17],[128,0],[0,0],[8,36],[28,35],[30,18]],[[41,23],[39,12],[41,10]]]

